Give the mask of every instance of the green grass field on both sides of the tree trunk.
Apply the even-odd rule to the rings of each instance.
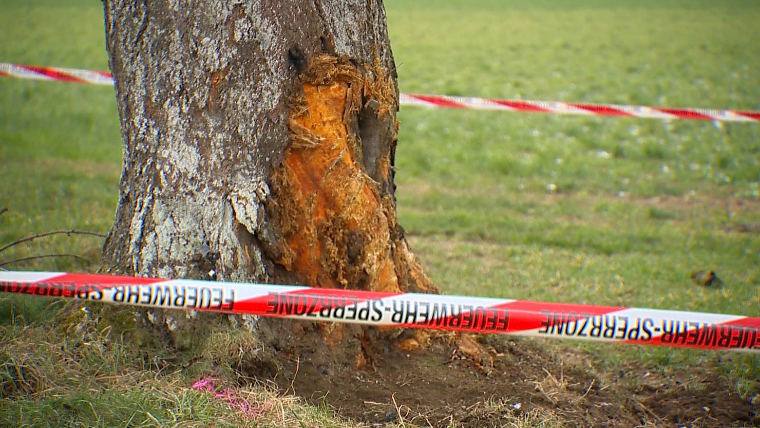
[[[758,2],[385,3],[403,92],[760,110]],[[6,1],[0,27],[0,62],[107,69],[96,0]],[[760,125],[413,107],[399,119],[401,224],[445,292],[760,316]],[[9,208],[0,246],[48,230],[107,232],[120,166],[110,88],[0,78],[0,208]],[[90,236],[40,239],[0,253],[0,263],[67,252],[91,263],[5,268],[87,271],[101,245]],[[697,269],[714,269],[724,288],[692,284]],[[0,343],[20,340],[19,325],[44,325],[48,304],[0,296]],[[758,357],[562,346],[611,368],[716,366],[743,395],[760,389]],[[0,351],[0,364],[12,357]],[[112,358],[98,360],[99,373],[116,376]],[[95,372],[77,379],[87,373]],[[66,400],[77,407],[88,386],[66,379],[51,381],[60,402],[4,400],[0,414],[17,405],[33,418]],[[133,380],[123,414],[150,404],[141,411],[162,423],[172,412],[192,420],[177,409],[204,400],[159,400],[157,388]],[[208,406],[209,417],[222,408]]]

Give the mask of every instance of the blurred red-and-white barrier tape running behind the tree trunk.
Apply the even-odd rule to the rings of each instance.
[[[112,85],[111,75],[101,71],[36,67],[0,63],[0,76]],[[627,116],[648,119],[692,119],[721,122],[760,122],[760,112],[746,110],[680,109],[673,107],[622,106],[617,104],[563,103],[559,101],[496,100],[475,97],[401,94],[402,106],[489,109],[570,115]]]

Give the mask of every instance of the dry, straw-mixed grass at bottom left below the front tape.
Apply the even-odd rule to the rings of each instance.
[[[67,334],[43,326],[0,327],[0,426],[356,426],[326,405],[220,379],[198,390],[187,370],[156,369],[86,315]],[[207,350],[220,361],[242,361],[255,343],[221,334]]]

